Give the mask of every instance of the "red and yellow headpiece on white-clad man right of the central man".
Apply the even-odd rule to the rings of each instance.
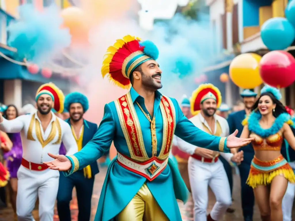
[[[216,100],[219,108],[222,101],[219,89],[213,84],[201,84],[191,95],[191,114],[198,114],[201,110],[200,104],[209,98]]]

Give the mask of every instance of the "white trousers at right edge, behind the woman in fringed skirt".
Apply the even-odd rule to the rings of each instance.
[[[295,162],[289,162],[295,168]],[[286,193],[282,201],[283,221],[292,221],[292,208],[295,196],[295,184],[288,183]]]

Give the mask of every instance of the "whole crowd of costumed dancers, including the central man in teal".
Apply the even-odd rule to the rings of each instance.
[[[108,48],[103,77],[130,91],[105,105],[99,127],[83,119],[89,108],[85,95],[64,97],[52,83],[37,90],[37,110],[17,116],[9,106],[0,115],[8,167],[2,177],[7,182],[10,174],[19,221],[34,220],[37,198],[40,221],[53,220],[56,200],[60,220],[71,220],[73,187],[78,220],[89,220],[96,161],[113,141],[117,156],[106,173],[96,221],[180,221],[176,199],[186,202],[189,191],[195,221],[221,220],[232,203],[232,167],[241,176],[245,221],[253,220],[254,200],[263,221],[291,220],[295,175],[289,162],[295,161],[295,130],[279,90],[265,86],[258,98],[244,90],[245,109],[226,120],[229,108],[221,105],[219,89],[202,84],[181,109],[158,91],[158,54],[153,42],[130,35]],[[58,117],[64,109],[66,120]],[[181,166],[186,159],[187,169]],[[209,214],[208,186],[216,197]]]

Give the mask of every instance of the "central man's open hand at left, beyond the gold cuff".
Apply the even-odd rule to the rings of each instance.
[[[68,171],[69,169],[71,169],[71,161],[65,155],[55,155],[48,153],[48,156],[54,158],[53,161],[43,162],[43,164],[48,166],[49,169],[59,171]]]

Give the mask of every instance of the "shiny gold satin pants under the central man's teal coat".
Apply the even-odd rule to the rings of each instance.
[[[146,183],[116,216],[118,221],[169,221]]]

